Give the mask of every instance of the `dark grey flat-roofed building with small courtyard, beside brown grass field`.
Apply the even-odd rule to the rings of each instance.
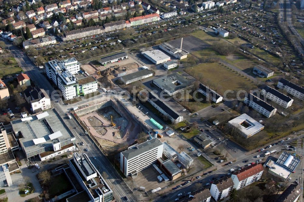
[[[153,84],[164,90],[164,92],[169,96],[184,91],[185,89],[189,89],[193,86],[188,79],[181,76],[177,72],[153,79]]]

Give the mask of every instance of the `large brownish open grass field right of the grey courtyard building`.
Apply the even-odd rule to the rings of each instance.
[[[234,72],[234,70],[227,69],[218,63],[203,63],[192,69],[187,69],[186,72],[195,78],[202,76],[202,82],[220,94],[224,94],[226,90],[250,90],[257,86],[254,82],[245,76]]]

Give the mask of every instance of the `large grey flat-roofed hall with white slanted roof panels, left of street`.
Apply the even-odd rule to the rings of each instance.
[[[55,109],[11,121],[12,130],[21,143],[26,158],[46,151],[54,151],[54,141],[59,147],[75,143],[75,137]]]

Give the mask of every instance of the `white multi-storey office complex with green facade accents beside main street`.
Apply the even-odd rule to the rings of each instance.
[[[47,76],[60,89],[65,100],[97,91],[97,81],[92,76],[76,75],[79,62],[75,58],[45,63]]]

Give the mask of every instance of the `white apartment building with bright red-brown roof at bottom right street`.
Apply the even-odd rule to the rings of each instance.
[[[262,164],[258,163],[232,173],[233,188],[239,190],[251,183],[257,182],[261,178],[263,171]]]

